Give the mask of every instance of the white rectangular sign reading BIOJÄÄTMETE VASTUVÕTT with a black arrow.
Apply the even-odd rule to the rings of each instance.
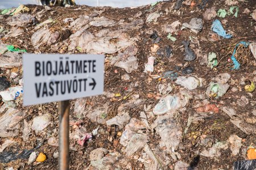
[[[104,56],[23,54],[23,105],[101,95]]]

